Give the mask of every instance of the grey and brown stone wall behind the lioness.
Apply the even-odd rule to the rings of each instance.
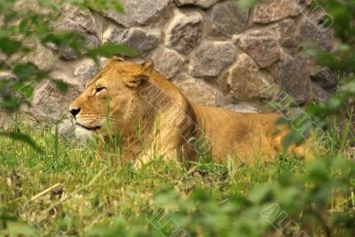
[[[296,4],[303,1],[268,0],[249,11],[233,0],[121,2],[125,14],[66,7],[57,28],[83,32],[92,46],[128,45],[140,52],[130,60],[153,59],[156,70],[203,105],[259,112],[268,99],[261,91],[272,83],[300,105],[327,99],[335,90],[336,75],[300,53],[300,43],[310,39],[327,51],[334,43],[314,12]],[[40,47],[31,60],[69,84],[67,94],[48,82],[37,87],[31,113],[38,122],[67,115],[68,103],[99,69],[91,59],[76,59],[73,51],[54,46]]]

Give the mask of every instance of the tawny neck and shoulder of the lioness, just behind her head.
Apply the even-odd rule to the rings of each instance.
[[[191,110],[188,108],[190,104],[175,85],[158,74],[155,74],[152,82],[147,83],[139,93],[146,107],[143,115],[138,118],[138,124],[122,133],[122,155],[125,161],[137,160],[142,154],[151,152],[155,149],[155,143],[169,142],[170,134],[165,134],[161,128],[175,127],[178,121],[176,117]],[[158,138],[161,135],[164,138]]]

